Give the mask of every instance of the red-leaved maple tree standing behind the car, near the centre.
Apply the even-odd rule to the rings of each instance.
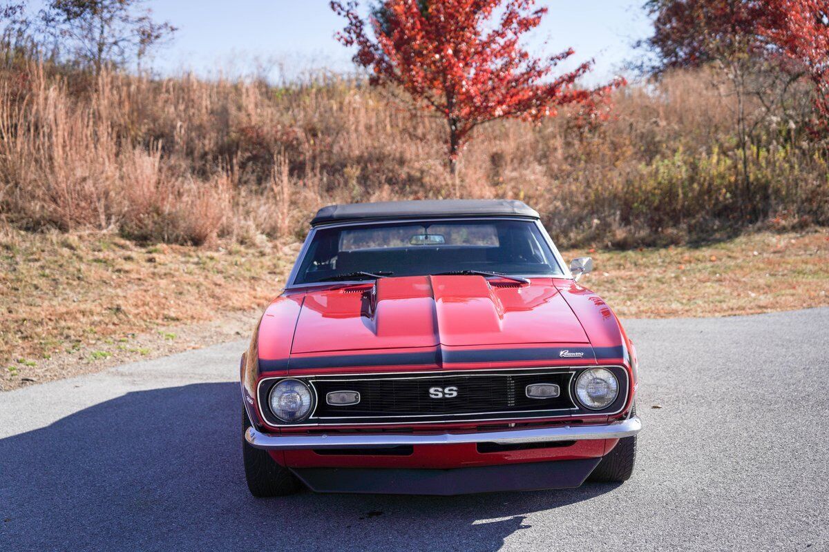
[[[372,84],[400,86],[446,119],[454,174],[475,127],[501,118],[538,121],[568,104],[602,117],[609,91],[624,84],[616,79],[595,89],[579,88],[576,81],[592,61],[552,76],[555,65],[574,52],[539,59],[520,46],[521,35],[536,28],[547,12],[534,3],[384,0],[368,21],[356,1],[335,0],[331,7],[348,21],[338,40],[356,46],[354,61],[371,70]]]

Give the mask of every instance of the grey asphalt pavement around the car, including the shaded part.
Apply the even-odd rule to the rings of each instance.
[[[623,485],[256,500],[237,342],[0,394],[0,550],[829,550],[829,309],[626,325]]]

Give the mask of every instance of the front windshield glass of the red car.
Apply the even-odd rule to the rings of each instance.
[[[511,219],[320,228],[294,284],[487,271],[563,276],[536,223]]]

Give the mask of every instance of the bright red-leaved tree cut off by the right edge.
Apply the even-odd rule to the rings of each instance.
[[[817,127],[829,131],[829,0],[768,0],[761,33],[815,84]]]

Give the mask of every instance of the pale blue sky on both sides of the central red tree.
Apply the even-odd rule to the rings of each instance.
[[[633,42],[650,28],[644,0],[536,3],[550,12],[526,46],[534,55],[572,47],[575,55],[562,69],[593,58],[588,83],[620,74],[624,62],[636,55]],[[321,68],[353,70],[351,52],[334,39],[343,22],[327,0],[148,0],[146,5],[157,20],[178,27],[174,40],[153,59],[160,74],[193,70],[203,76],[291,79]]]

